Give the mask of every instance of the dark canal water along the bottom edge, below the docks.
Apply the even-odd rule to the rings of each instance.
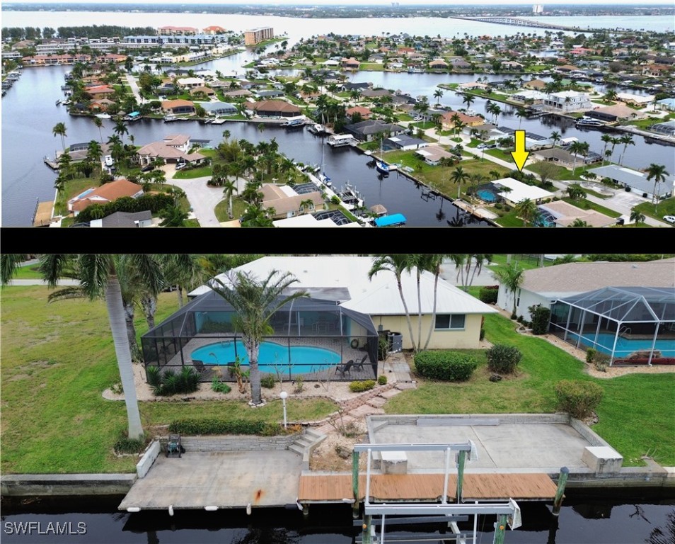
[[[4,504],[2,541],[10,543],[61,542],[83,544],[352,544],[360,527],[352,525],[351,509],[313,505],[308,518],[286,509],[253,509],[217,512],[116,511],[122,497],[82,497],[30,502],[23,506]],[[675,497],[646,490],[616,490],[611,497],[568,492],[556,526],[550,505],[521,502],[523,525],[507,530],[505,544],[671,544],[675,542]],[[478,516],[478,543],[492,543],[495,516]],[[30,534],[17,533],[33,522]],[[22,525],[19,525],[23,523]],[[66,526],[71,536],[45,534],[49,523]],[[69,525],[68,525],[69,523]],[[78,525],[80,523],[80,525]],[[461,531],[473,531],[473,517],[459,523]],[[42,531],[43,534],[38,534]],[[86,531],[86,533],[85,533]],[[439,524],[389,526],[388,538],[422,541],[422,534],[443,540]],[[379,536],[379,534],[378,534]],[[400,541],[400,540],[399,540]],[[426,540],[427,542],[429,540]]]

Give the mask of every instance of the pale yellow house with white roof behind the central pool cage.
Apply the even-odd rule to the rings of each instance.
[[[251,273],[266,278],[272,270],[292,273],[298,282],[294,288],[320,291],[328,294],[331,288],[337,297],[337,305],[344,309],[360,312],[371,317],[381,330],[395,331],[402,336],[404,349],[412,348],[403,302],[398,294],[396,277],[389,271],[381,271],[369,279],[373,265],[371,257],[357,256],[269,256],[235,268],[236,271]],[[224,276],[219,276],[224,281]],[[408,305],[412,330],[417,331],[417,271],[404,272],[401,288]],[[209,287],[195,289],[190,296],[208,293]],[[434,275],[423,271],[420,276],[423,336],[432,325],[434,310]],[[478,348],[480,346],[480,323],[485,314],[495,313],[492,307],[451,285],[443,278],[438,279],[436,297],[436,320],[433,323],[429,348]],[[416,333],[415,333],[416,334]]]

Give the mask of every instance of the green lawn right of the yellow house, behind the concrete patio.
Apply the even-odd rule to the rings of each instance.
[[[624,465],[642,466],[650,452],[664,466],[675,463],[672,418],[675,374],[630,374],[596,379],[584,373],[584,363],[543,339],[522,336],[514,322],[500,315],[485,316],[485,338],[517,346],[523,353],[516,378],[492,383],[485,356],[473,352],[479,367],[468,382],[424,380],[384,405],[388,414],[492,414],[556,411],[555,384],[560,380],[594,381],[604,389],[593,430],[616,448]]]

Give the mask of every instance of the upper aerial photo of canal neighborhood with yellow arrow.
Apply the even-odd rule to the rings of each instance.
[[[672,227],[674,11],[6,1],[2,226]]]

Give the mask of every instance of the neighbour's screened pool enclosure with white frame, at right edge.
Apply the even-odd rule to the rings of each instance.
[[[675,289],[608,287],[558,300],[550,332],[610,364],[675,364]]]

